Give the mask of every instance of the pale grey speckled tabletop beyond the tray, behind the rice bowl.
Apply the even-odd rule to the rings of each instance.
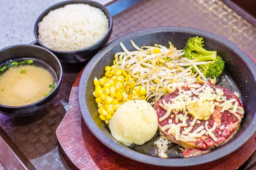
[[[0,0],[0,48],[34,41],[36,19],[45,9],[61,1]],[[112,0],[95,1],[106,4]]]

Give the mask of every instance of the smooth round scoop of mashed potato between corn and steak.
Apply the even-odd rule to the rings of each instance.
[[[109,128],[112,136],[126,146],[144,144],[157,132],[157,113],[145,100],[130,100],[116,110]]]

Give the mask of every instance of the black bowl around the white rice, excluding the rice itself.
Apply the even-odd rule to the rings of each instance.
[[[96,8],[100,8],[105,13],[105,15],[108,18],[108,22],[109,22],[109,28],[108,28],[108,31],[105,34],[105,36],[101,40],[96,42],[95,44],[93,44],[87,48],[83,48],[81,50],[76,50],[76,51],[53,50],[53,49],[45,46],[43,43],[41,43],[38,40],[38,23],[41,22],[41,20],[49,13],[49,11],[52,11],[57,8],[61,8],[63,6],[69,5],[69,4],[76,4],[76,3],[84,3],[84,4],[88,4],[90,6],[94,6]],[[61,62],[77,63],[77,62],[84,62],[84,61],[91,59],[94,54],[96,54],[100,49],[102,49],[105,45],[108,44],[108,41],[109,41],[111,33],[112,33],[112,27],[113,27],[112,15],[111,15],[110,11],[108,11],[108,9],[105,6],[103,6],[102,4],[97,3],[95,1],[91,1],[91,0],[67,0],[67,1],[57,3],[57,4],[47,8],[38,17],[38,19],[35,22],[35,26],[34,26],[34,34],[35,34],[35,39],[37,40],[37,42],[42,47],[47,48],[48,50],[52,51],[52,53],[55,54],[58,57],[58,59],[60,59]]]

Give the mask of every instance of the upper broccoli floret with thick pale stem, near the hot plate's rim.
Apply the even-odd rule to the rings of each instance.
[[[188,59],[199,59],[198,61],[215,60],[217,56],[216,51],[207,51],[203,48],[204,41],[202,37],[192,37],[186,43],[184,48],[185,54],[183,57]]]

